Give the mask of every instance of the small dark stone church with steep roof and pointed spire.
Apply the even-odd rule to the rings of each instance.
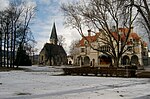
[[[55,23],[51,31],[49,43],[46,43],[39,54],[39,64],[47,66],[58,66],[67,64],[67,54],[58,38]]]

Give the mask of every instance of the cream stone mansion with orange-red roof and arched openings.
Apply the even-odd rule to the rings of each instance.
[[[107,67],[111,64],[114,64],[111,56],[102,53],[111,50],[105,45],[105,43],[100,43],[100,37],[105,39],[105,36],[102,35],[101,31],[91,35],[91,31],[88,30],[88,36],[83,37],[79,41],[79,44],[75,48],[76,54],[73,56],[75,65]],[[127,31],[127,28],[119,28],[119,33],[122,33],[120,37],[121,40],[125,40],[125,34]],[[111,33],[114,38],[117,38],[117,34],[115,32],[112,31]],[[99,51],[93,50],[93,48],[91,48],[91,46],[88,44],[91,44],[93,48],[98,49]],[[125,47],[128,50],[122,55],[119,61],[120,66],[137,64],[139,66],[148,65],[147,43],[144,42],[141,37],[139,37],[138,34],[133,31],[133,28],[131,29],[131,33]],[[117,49],[115,49],[115,51],[117,51]]]

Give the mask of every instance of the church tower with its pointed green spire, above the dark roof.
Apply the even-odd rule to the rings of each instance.
[[[58,38],[57,38],[56,26],[54,23],[51,31],[51,36],[50,36],[50,44],[57,45],[57,42],[58,42]]]

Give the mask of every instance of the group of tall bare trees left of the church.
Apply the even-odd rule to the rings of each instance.
[[[29,41],[29,23],[35,10],[35,6],[27,5],[27,2],[13,0],[6,9],[0,11],[0,66],[18,67],[20,54]],[[16,57],[17,49],[20,54],[17,53]]]

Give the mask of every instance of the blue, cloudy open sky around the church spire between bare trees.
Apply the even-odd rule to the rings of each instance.
[[[34,38],[37,41],[36,48],[38,52],[42,49],[43,45],[49,41],[50,33],[53,23],[56,23],[58,35],[63,35],[65,38],[65,50],[69,52],[71,41],[80,39],[80,35],[74,29],[65,27],[63,25],[64,16],[60,11],[60,5],[75,0],[28,0],[29,4],[37,6],[37,12],[34,20],[32,21],[31,30]],[[9,0],[0,0],[0,10],[5,8]]]

